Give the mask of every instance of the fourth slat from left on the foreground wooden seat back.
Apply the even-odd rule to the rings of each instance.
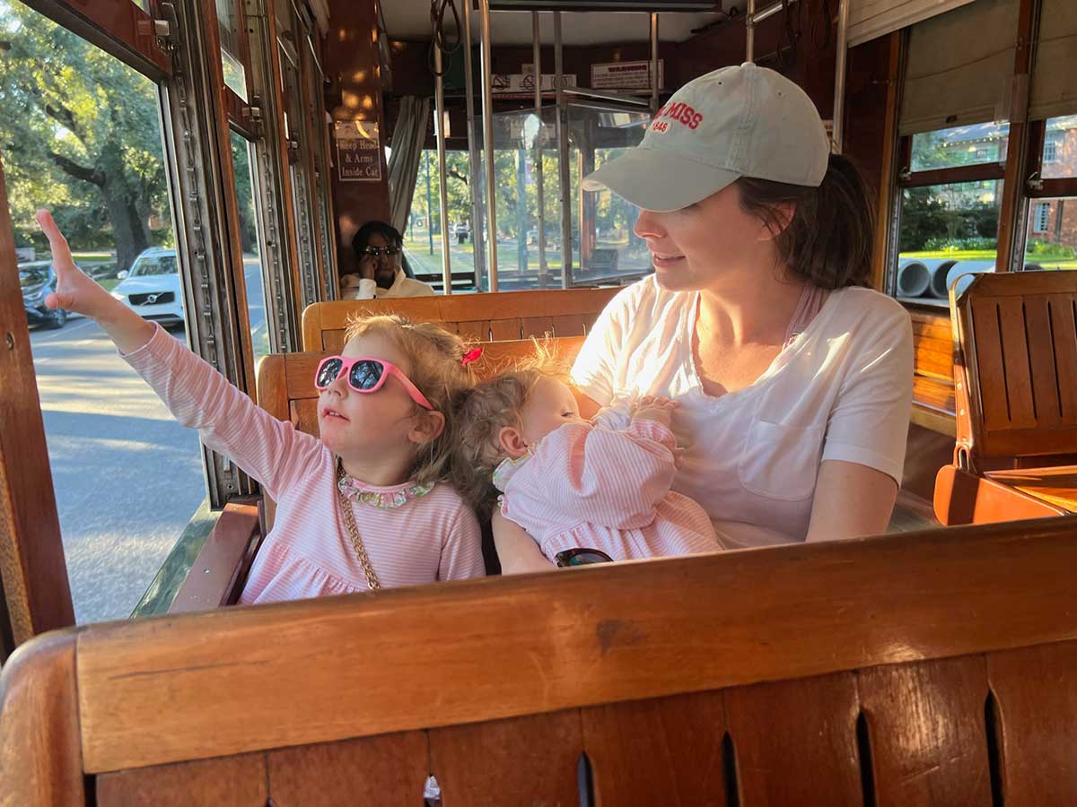
[[[721,692],[596,706],[583,724],[600,806],[725,807]]]

